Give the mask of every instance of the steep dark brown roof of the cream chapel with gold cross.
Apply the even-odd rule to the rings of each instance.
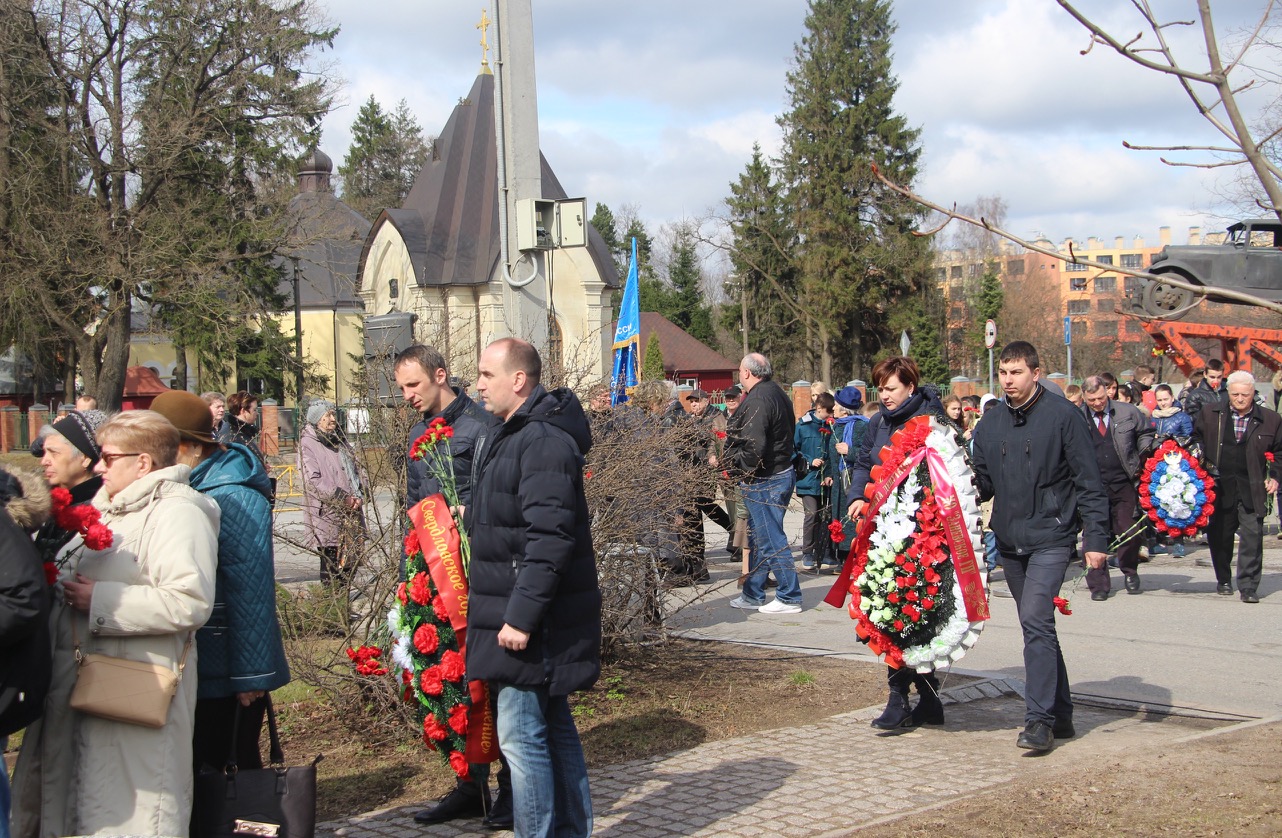
[[[542,154],[538,160],[542,197],[568,197]],[[364,269],[379,228],[392,224],[409,250],[419,286],[490,282],[500,258],[497,165],[494,76],[482,73],[432,144],[404,206],[383,210],[374,220],[358,269]],[[605,284],[618,286],[605,241],[591,227],[588,251]]]

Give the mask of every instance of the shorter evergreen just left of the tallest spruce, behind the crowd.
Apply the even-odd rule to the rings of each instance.
[[[729,185],[726,199],[729,210],[733,274],[724,284],[731,305],[722,308],[720,325],[732,334],[747,329],[749,350],[764,352],[776,369],[810,375],[797,368],[804,354],[797,340],[801,316],[795,302],[796,269],[792,263],[795,240],[778,183],[762,155],[753,146],[753,159]],[[746,320],[746,323],[745,323]],[[738,351],[744,351],[740,345]]]

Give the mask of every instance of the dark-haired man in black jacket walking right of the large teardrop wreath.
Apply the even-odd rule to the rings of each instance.
[[[974,428],[974,475],[981,500],[994,498],[990,527],[1024,634],[1026,728],[1015,744],[1049,751],[1056,737],[1074,734],[1054,597],[1077,546],[1078,519],[1086,564],[1104,566],[1109,498],[1090,425],[1041,386],[1037,350],[1026,341],[1008,345],[997,370],[1006,405]]]

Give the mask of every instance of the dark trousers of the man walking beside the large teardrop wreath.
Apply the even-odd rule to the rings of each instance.
[[[1001,569],[1024,633],[1024,724],[1042,721],[1054,727],[1073,720],[1054,602],[1072,552],[1072,547],[1046,547],[1024,555],[1001,554]]]

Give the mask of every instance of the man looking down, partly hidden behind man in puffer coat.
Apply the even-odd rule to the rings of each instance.
[[[450,386],[445,356],[431,346],[422,343],[410,346],[396,356],[394,370],[401,398],[422,414],[422,419],[409,433],[410,448],[427,431],[427,423],[437,416],[454,428],[454,436],[450,438],[450,465],[454,469],[459,505],[467,507],[472,502],[473,473],[479,465],[476,455],[485,448],[486,440],[494,437],[503,423],[472,401],[465,392]],[[428,470],[424,460],[406,457],[405,463],[406,506],[413,506],[441,491],[440,479]],[[415,812],[414,820],[419,824],[441,824],[456,817],[483,815],[487,828],[512,829],[512,771],[506,761],[503,761],[499,769],[497,780],[499,796],[494,806],[490,806],[488,788],[482,788],[476,780],[459,779],[454,791],[431,809]]]

